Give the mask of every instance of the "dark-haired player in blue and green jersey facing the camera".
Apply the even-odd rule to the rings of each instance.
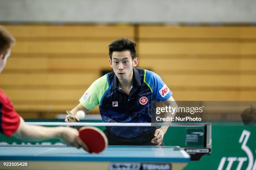
[[[156,73],[135,68],[138,65],[135,42],[121,38],[108,47],[113,72],[92,83],[79,105],[71,110],[72,114],[78,110],[87,113],[99,105],[103,122],[151,122],[152,100],[167,105],[174,101],[172,92]],[[74,116],[67,115],[66,122],[67,118]],[[167,129],[168,126],[106,127],[104,133],[109,145],[163,145]]]

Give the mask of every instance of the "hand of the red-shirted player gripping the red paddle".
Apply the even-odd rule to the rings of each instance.
[[[79,132],[76,129],[69,127],[61,127],[60,139],[67,145],[74,146],[76,148],[83,148],[87,152],[89,151],[87,145],[79,138]]]

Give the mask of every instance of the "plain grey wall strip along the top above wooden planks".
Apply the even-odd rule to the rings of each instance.
[[[254,0],[0,0],[0,22],[253,24]]]

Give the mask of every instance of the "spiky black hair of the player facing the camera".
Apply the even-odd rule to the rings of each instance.
[[[128,38],[120,38],[115,40],[108,45],[109,48],[109,57],[112,60],[112,53],[114,51],[121,52],[121,51],[130,51],[132,59],[136,57],[136,43],[129,40]]]

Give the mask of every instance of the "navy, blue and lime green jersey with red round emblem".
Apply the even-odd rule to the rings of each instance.
[[[80,103],[92,110],[100,106],[103,122],[151,122],[151,102],[165,101],[172,92],[156,73],[133,68],[133,85],[129,95],[118,85],[118,78],[110,72],[95,82],[80,98]],[[136,138],[154,127],[107,127],[110,133],[123,138]]]

